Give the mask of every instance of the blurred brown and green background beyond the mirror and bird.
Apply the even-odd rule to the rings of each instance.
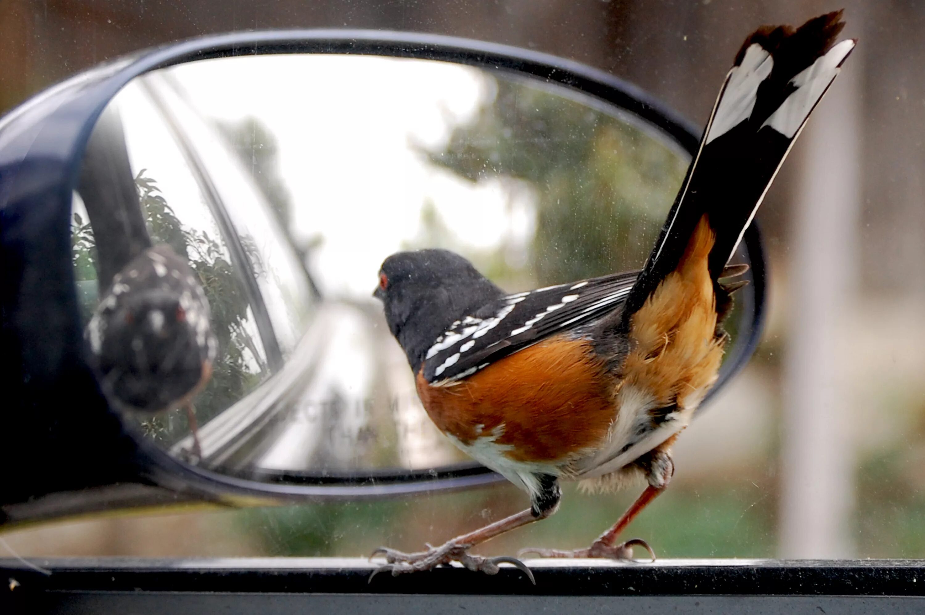
[[[5,0],[0,108],[145,46],[230,30],[350,27],[561,55],[635,82],[702,125],[748,32],[836,7]],[[629,530],[660,557],[925,557],[925,6],[848,3],[845,18],[857,50],[759,210],[771,314],[758,354],[686,430],[672,487]],[[238,129],[240,148],[272,158],[272,138]],[[569,486],[551,519],[481,550],[586,546],[633,498]],[[4,537],[24,557],[363,555],[381,544],[417,549],[525,502],[499,485],[380,502],[172,510]]]

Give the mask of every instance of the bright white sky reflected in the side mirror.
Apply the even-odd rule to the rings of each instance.
[[[203,115],[257,117],[277,138],[296,237],[324,238],[313,273],[327,292],[366,297],[379,264],[419,231],[432,201],[458,244],[533,234],[533,208],[498,181],[470,182],[421,160],[494,95],[493,79],[447,63],[276,55],[173,69]],[[511,200],[517,203],[511,205]]]

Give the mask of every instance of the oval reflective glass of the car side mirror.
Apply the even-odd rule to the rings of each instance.
[[[689,162],[581,92],[365,55],[160,69],[117,95],[97,133],[103,162],[92,139],[72,213],[88,340],[113,289],[135,290],[131,259],[166,244],[202,287],[216,342],[194,396],[117,407],[183,461],[277,483],[472,463],[426,416],[372,297],[388,254],[460,252],[511,292],[638,269]]]

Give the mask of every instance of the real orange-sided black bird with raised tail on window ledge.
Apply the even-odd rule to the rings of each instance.
[[[590,547],[529,551],[626,559],[633,546],[648,548],[617,538],[668,485],[672,443],[716,380],[722,318],[738,286],[729,278],[744,271],[727,261],[855,46],[835,43],[840,18],[762,27],[746,39],[641,272],[507,294],[452,252],[386,259],[375,294],[427,413],[456,446],[529,493],[532,506],[420,553],[378,549],[388,560],[380,570],[452,560],[487,573],[500,561],[523,567],[467,550],[552,514],[560,479],[617,488],[645,478],[648,487]]]

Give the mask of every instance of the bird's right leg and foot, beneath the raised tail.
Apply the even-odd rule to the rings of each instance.
[[[620,520],[614,523],[611,529],[599,535],[597,540],[591,543],[587,548],[576,548],[573,551],[562,551],[554,548],[524,548],[518,551],[517,556],[523,557],[524,553],[536,553],[541,558],[607,558],[611,560],[632,560],[633,547],[644,547],[652,561],[655,561],[655,551],[648,543],[641,538],[633,538],[626,542],[617,544],[617,538],[623,534],[623,530],[636,516],[645,509],[649,502],[657,498],[674,474],[674,463],[670,450],[653,449],[646,456],[636,461],[636,464],[646,472],[649,485],[646,490],[636,498],[635,502],[623,512]]]

